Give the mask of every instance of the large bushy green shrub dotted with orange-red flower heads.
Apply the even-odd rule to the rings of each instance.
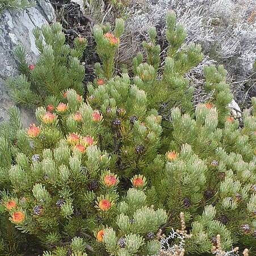
[[[2,193],[1,220],[20,239],[33,237],[43,255],[156,255],[161,233],[177,229],[188,254],[209,253],[218,234],[224,250],[238,245],[255,251],[255,98],[252,115],[244,111],[240,127],[227,108],[232,94],[225,70],[209,66],[205,90],[211,101],[194,108],[184,75],[203,56],[198,46],[184,44],[186,31],[173,12],[166,22],[169,50],[162,68],[156,30],[150,28],[145,60],[138,53],[133,76],[115,75],[123,21],[116,20],[113,34],[109,24],[96,26],[101,64],[87,84],[87,98],[76,91],[77,66],[72,89],[61,89],[64,94],[41,87],[45,106],[36,110],[38,125],[22,129],[12,108],[9,123],[0,127],[0,186],[9,191]],[[55,58],[71,63],[69,53],[82,54],[63,44],[67,55],[60,55],[49,46],[56,26],[35,32],[41,72]],[[49,45],[40,45],[40,35]],[[20,56],[26,56],[21,48]],[[59,85],[69,73],[63,70],[61,78],[56,71],[45,81]],[[25,81],[36,85],[43,82],[40,75],[35,68]],[[0,239],[6,243],[2,234]],[[171,247],[177,241],[168,242]]]

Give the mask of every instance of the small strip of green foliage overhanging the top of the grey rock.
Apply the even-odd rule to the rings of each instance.
[[[24,9],[35,7],[36,2],[34,0],[1,0],[0,1],[0,13],[5,10],[10,11],[22,11]]]

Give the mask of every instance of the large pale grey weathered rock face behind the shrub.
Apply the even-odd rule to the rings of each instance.
[[[5,84],[6,79],[19,74],[18,61],[13,54],[14,48],[18,43],[23,44],[28,50],[28,61],[35,62],[39,52],[32,30],[55,20],[51,3],[39,2],[44,3],[21,12],[5,11],[0,16],[0,121],[8,119],[7,110],[14,104]],[[21,112],[24,127],[35,123],[35,116],[32,113],[24,109],[21,109]]]

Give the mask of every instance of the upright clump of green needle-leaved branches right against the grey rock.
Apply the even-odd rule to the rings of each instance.
[[[65,35],[59,23],[44,25],[33,30],[40,56],[37,63],[28,65],[27,52],[22,45],[15,49],[20,65],[20,74],[11,78],[7,85],[17,104],[32,107],[44,103],[57,106],[67,89],[75,89],[83,95],[85,68],[79,60],[83,56],[87,40],[78,37],[73,48],[65,44]]]

